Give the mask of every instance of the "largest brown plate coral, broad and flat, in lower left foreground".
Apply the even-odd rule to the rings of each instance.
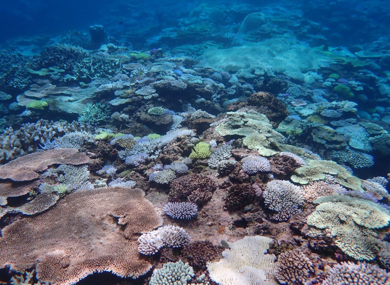
[[[74,192],[50,210],[3,229],[0,267],[36,267],[38,280],[52,285],[75,284],[103,271],[137,278],[152,267],[137,251],[138,233],[161,224],[141,189]]]

